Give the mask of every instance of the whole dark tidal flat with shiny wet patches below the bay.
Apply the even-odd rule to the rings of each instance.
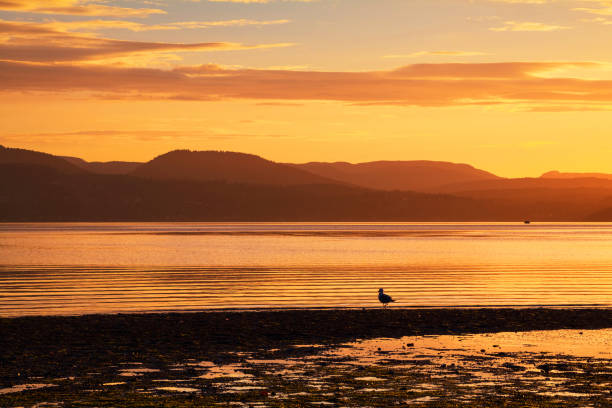
[[[610,309],[0,319],[0,406],[612,406]]]

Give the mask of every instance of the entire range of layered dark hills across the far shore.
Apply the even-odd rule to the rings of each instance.
[[[0,221],[523,220],[612,221],[612,179],[506,179],[430,161],[294,165],[189,150],[88,163],[0,146]]]

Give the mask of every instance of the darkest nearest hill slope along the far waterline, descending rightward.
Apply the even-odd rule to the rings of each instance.
[[[0,164],[0,221],[456,221],[469,198],[344,185],[264,185],[65,174]],[[492,219],[490,218],[490,219]]]

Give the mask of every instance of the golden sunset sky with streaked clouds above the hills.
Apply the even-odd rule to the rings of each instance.
[[[612,0],[0,0],[0,144],[612,173]]]

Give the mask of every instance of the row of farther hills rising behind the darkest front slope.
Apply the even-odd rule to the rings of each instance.
[[[80,169],[95,174],[133,175],[154,180],[269,185],[346,184],[374,190],[435,193],[448,184],[499,179],[492,173],[467,164],[425,160],[291,164],[277,163],[247,153],[174,150],[146,163],[87,162],[78,157],[4,149],[13,152],[14,157],[9,162],[49,165],[60,171],[75,172]],[[16,151],[21,156],[15,155]]]

